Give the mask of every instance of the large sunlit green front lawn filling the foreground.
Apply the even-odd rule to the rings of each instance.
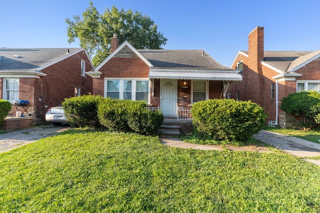
[[[283,154],[178,149],[68,130],[0,154],[0,212],[320,212],[319,167]]]

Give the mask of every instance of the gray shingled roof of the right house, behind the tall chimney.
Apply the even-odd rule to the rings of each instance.
[[[241,51],[248,54],[248,51]],[[264,51],[263,62],[269,66],[272,66],[284,73],[289,72],[294,67],[306,62],[312,58],[318,51]]]

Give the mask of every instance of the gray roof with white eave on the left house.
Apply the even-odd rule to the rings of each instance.
[[[67,50],[69,52],[67,53]],[[45,76],[41,70],[83,48],[0,48],[0,76]]]

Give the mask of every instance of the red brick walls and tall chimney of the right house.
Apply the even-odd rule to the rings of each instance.
[[[285,123],[285,118],[281,118],[284,112],[280,110],[282,98],[296,92],[297,80],[320,80],[320,61],[311,61],[296,70],[295,73],[302,75],[295,79],[278,79],[278,115],[276,115],[276,95],[271,98],[271,84],[276,86],[276,79],[272,77],[279,73],[261,63],[263,51],[263,27],[256,27],[248,35],[248,55],[239,53],[231,66],[236,69],[237,63],[243,62],[242,82],[230,84],[227,93],[236,99],[238,92],[239,100],[251,100],[264,108],[268,114],[265,124],[276,121],[278,125],[282,125]]]

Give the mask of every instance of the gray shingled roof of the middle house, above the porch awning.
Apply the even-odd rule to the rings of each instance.
[[[203,50],[138,49],[137,51],[153,65],[152,68],[233,70],[222,66]]]

